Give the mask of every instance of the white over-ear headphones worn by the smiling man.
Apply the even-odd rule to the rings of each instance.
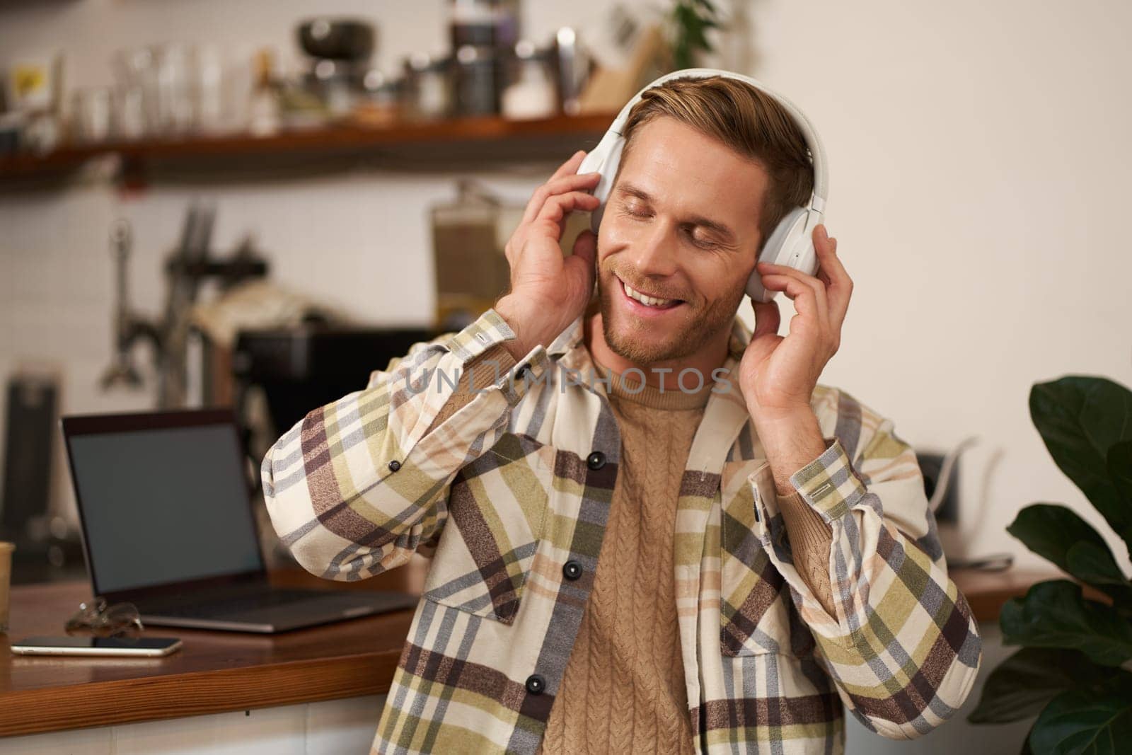
[[[817,272],[817,255],[814,252],[814,229],[823,222],[825,214],[825,198],[829,195],[829,178],[826,177],[825,147],[817,137],[817,131],[811,125],[806,115],[798,108],[782,95],[773,92],[761,81],[735,74],[731,71],[717,70],[714,68],[685,68],[684,70],[666,74],[659,79],[636,93],[629,102],[617,113],[612,126],[601,137],[601,141],[582,161],[578,173],[600,172],[601,179],[593,190],[593,196],[601,200],[598,209],[593,211],[590,225],[593,232],[598,232],[601,225],[601,216],[606,209],[606,201],[609,199],[609,191],[612,188],[614,177],[617,175],[617,166],[621,161],[621,151],[625,148],[625,137],[621,131],[625,129],[625,121],[628,120],[629,111],[649,89],[660,86],[664,81],[676,78],[710,78],[721,76],[739,81],[745,81],[774,97],[782,108],[794,118],[795,123],[806,138],[806,146],[809,147],[811,163],[814,169],[814,194],[809,197],[808,206],[795,207],[786,214],[778,224],[763,250],[758,255],[762,261],[787,265],[801,271],[806,275]],[[747,282],[747,293],[755,301],[767,302],[774,298],[775,291],[767,291],[763,288],[763,282],[757,271],[752,272]]]

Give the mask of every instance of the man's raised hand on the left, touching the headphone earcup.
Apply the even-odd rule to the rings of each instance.
[[[507,351],[516,360],[534,346],[547,346],[585,309],[593,293],[597,237],[583,231],[574,254],[563,257],[558,246],[571,212],[593,212],[600,204],[586,194],[598,186],[599,173],[576,173],[585,157],[576,153],[535,189],[505,247],[511,265],[511,291],[495,310],[515,332]]]

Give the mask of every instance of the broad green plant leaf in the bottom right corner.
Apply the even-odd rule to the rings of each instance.
[[[1120,755],[1132,745],[1132,674],[1063,692],[1046,706],[1030,730],[1035,753]]]

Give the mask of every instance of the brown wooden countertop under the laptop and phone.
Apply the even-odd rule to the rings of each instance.
[[[320,589],[379,589],[419,594],[420,574],[343,585],[303,572],[273,582]],[[1049,572],[953,570],[980,621]],[[353,619],[280,635],[154,627],[178,636],[179,652],[160,659],[12,655],[11,640],[61,635],[62,623],[91,597],[86,582],[14,587],[11,627],[0,634],[0,736],[200,715],[388,692],[413,611]]]

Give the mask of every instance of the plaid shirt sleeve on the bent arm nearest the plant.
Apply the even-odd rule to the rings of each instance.
[[[769,473],[752,481],[755,526],[842,701],[877,733],[910,739],[963,704],[981,661],[978,626],[947,576],[915,452],[890,420],[831,396],[826,449],[790,482],[832,532],[833,615],[794,566]]]

